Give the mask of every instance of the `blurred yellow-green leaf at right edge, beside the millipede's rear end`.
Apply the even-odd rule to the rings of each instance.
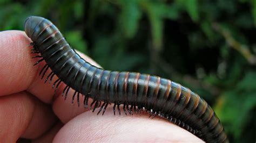
[[[238,139],[247,125],[248,115],[256,107],[256,73],[248,72],[234,89],[224,92],[215,106],[215,112],[223,123],[228,125],[228,132],[232,132]]]

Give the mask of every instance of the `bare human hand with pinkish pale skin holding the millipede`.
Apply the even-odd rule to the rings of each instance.
[[[114,116],[113,104],[104,116],[97,115],[98,109],[92,113],[84,109],[82,96],[80,107],[76,101],[71,103],[73,90],[64,100],[64,83],[55,93],[52,84],[38,76],[45,62],[32,66],[37,59],[31,59],[30,42],[23,31],[0,32],[0,142],[18,138],[33,142],[202,142],[169,121],[149,119],[147,113],[125,116],[122,111],[121,116]]]

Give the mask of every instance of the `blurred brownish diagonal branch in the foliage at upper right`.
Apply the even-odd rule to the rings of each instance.
[[[231,33],[226,30],[225,28],[221,27],[218,23],[213,23],[212,27],[215,31],[219,32],[225,38],[226,42],[230,47],[237,50],[244,58],[251,64],[256,65],[256,56],[253,55],[249,47],[247,45],[241,44],[240,42],[236,41]]]

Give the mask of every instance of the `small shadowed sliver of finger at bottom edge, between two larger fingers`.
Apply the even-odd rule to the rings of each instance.
[[[49,132],[46,132],[45,134],[43,134],[42,137],[32,140],[32,142],[37,142],[37,143],[52,142],[53,138],[62,127],[63,127],[63,124],[59,122],[53,128],[51,128]]]

